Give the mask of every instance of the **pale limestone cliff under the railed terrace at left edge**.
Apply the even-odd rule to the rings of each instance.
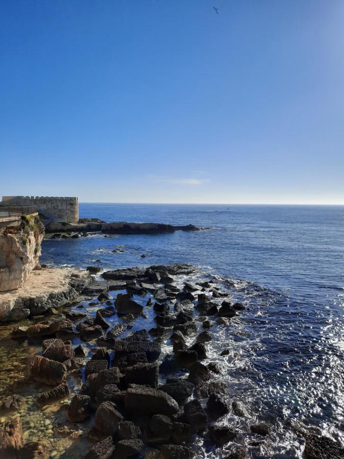
[[[0,292],[21,287],[39,263],[44,226],[35,216],[22,216],[18,228],[0,233]]]

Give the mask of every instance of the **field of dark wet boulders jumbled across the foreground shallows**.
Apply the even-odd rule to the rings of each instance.
[[[34,403],[40,409],[62,410],[52,436],[68,439],[69,448],[88,445],[88,459],[198,457],[198,439],[213,445],[214,457],[245,458],[252,457],[248,447],[269,441],[273,423],[252,413],[245,398],[231,397],[221,363],[202,363],[211,329],[230,327],[245,306],[211,278],[193,279],[194,272],[188,264],[107,271],[103,282],[83,290],[96,297],[89,303],[95,314],[80,305],[14,327],[11,339],[41,345],[27,380],[38,385]],[[145,328],[148,317],[154,326]],[[142,328],[130,331],[138,322]],[[219,358],[228,353],[224,348]],[[80,390],[72,389],[71,376],[80,379]],[[0,433],[0,455],[27,457],[29,449],[36,454],[30,457],[73,457],[63,448],[51,451],[49,442],[23,442],[18,405],[18,393],[3,403],[13,416]],[[246,430],[228,425],[230,413],[245,421]],[[324,437],[305,434],[304,445],[307,459],[343,454]]]

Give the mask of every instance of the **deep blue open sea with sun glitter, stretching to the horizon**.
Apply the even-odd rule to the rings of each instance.
[[[273,426],[252,455],[302,457],[300,429],[344,444],[343,206],[80,203],[80,217],[210,228],[46,240],[41,263],[196,265],[247,308],[230,326],[211,328],[208,360],[225,366],[230,397],[249,406],[251,421]],[[245,429],[235,416],[224,422]],[[200,457],[219,457],[206,442],[198,448]]]

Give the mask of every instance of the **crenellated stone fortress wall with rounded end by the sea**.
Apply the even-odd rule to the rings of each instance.
[[[3,196],[2,205],[37,206],[47,218],[76,223],[79,219],[77,197]]]

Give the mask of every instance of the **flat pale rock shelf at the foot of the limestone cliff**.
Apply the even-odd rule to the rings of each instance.
[[[0,293],[0,322],[22,320],[75,300],[90,279],[88,271],[45,268],[33,271],[17,290]]]

